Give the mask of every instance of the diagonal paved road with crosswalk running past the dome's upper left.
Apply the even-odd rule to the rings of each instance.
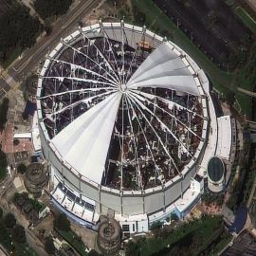
[[[70,9],[55,24],[49,36],[39,40],[31,48],[27,49],[21,60],[16,61],[8,70],[5,77],[0,77],[0,99],[19,82],[24,75],[44,60],[44,57],[53,46],[56,46],[60,39],[65,37],[72,28],[78,27],[78,22],[95,9],[101,0],[81,0],[81,2]]]

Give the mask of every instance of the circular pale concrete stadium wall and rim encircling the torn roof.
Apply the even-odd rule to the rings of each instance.
[[[192,159],[183,168],[180,174],[160,186],[145,190],[117,190],[96,183],[69,165],[48,135],[40,98],[44,91],[44,77],[46,76],[46,71],[51,68],[51,60],[53,58],[58,59],[62,55],[66,44],[72,46],[79,42],[82,34],[85,34],[86,38],[93,39],[101,37],[102,30],[104,30],[108,38],[119,42],[122,41],[122,33],[124,31],[128,39],[135,38],[135,41],[131,40],[130,43],[128,41],[128,45],[130,44],[132,47],[136,47],[136,43],[133,42],[141,41],[142,37],[144,42],[149,42],[154,48],[157,48],[157,46],[160,46],[163,42],[168,42],[168,44],[173,46],[172,50],[177,58],[183,59],[183,62],[186,63],[197,84],[196,86],[199,91],[198,97],[204,118],[200,143]],[[202,158],[204,157],[210,130],[210,113],[214,113],[214,109],[210,109],[209,107],[209,101],[211,101],[209,87],[207,76],[185,51],[175,46],[174,43],[146,29],[146,27],[135,27],[120,22],[100,23],[90,27],[80,28],[64,38],[47,56],[38,84],[37,107],[40,136],[43,153],[51,166],[51,180],[54,182],[55,186],[57,186],[58,183],[62,183],[64,187],[68,188],[71,192],[76,192],[76,194],[93,200],[95,202],[95,211],[99,214],[107,214],[108,210],[115,210],[116,213],[122,216],[136,216],[139,214],[151,215],[159,210],[166,210],[170,205],[174,204],[177,199],[182,198],[183,194],[190,188],[191,180],[197,174]],[[84,147],[86,147],[86,145],[84,145]]]

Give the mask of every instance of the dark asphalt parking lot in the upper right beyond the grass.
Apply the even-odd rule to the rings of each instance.
[[[237,53],[250,32],[222,0],[154,0],[177,26],[219,66]]]

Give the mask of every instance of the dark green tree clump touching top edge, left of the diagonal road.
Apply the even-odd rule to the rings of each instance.
[[[46,19],[54,15],[63,15],[69,9],[73,0],[36,0],[34,7],[38,14]]]

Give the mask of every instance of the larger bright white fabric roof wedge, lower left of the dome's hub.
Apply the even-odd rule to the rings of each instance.
[[[120,99],[119,93],[113,93],[52,139],[66,162],[98,184],[101,184]]]

